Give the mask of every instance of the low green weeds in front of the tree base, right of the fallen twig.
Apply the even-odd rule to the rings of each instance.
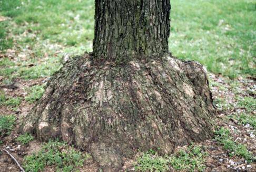
[[[49,141],[38,153],[25,156],[25,171],[43,171],[44,167],[52,166],[56,171],[72,171],[83,163],[90,155],[76,151],[73,147],[60,141]]]

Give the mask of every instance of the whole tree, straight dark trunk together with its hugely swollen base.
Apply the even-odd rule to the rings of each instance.
[[[202,65],[168,52],[169,0],[96,0],[93,53],[53,75],[22,131],[61,138],[117,171],[138,149],[171,154],[212,135]]]

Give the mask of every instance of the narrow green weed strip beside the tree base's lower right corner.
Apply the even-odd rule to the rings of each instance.
[[[241,156],[248,161],[255,160],[252,153],[248,151],[247,147],[240,143],[235,143],[231,136],[230,130],[221,127],[215,131],[215,140],[223,144],[223,148],[228,151],[229,156]]]

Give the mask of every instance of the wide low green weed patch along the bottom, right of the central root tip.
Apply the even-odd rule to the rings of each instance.
[[[204,158],[208,154],[201,146],[193,144],[181,149],[172,156],[159,156],[156,151],[149,150],[137,158],[135,170],[137,171],[169,171],[170,167],[175,170],[203,171]]]

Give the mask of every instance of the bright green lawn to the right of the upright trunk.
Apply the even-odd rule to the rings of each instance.
[[[255,14],[250,0],[173,1],[170,49],[213,73],[255,75]]]

